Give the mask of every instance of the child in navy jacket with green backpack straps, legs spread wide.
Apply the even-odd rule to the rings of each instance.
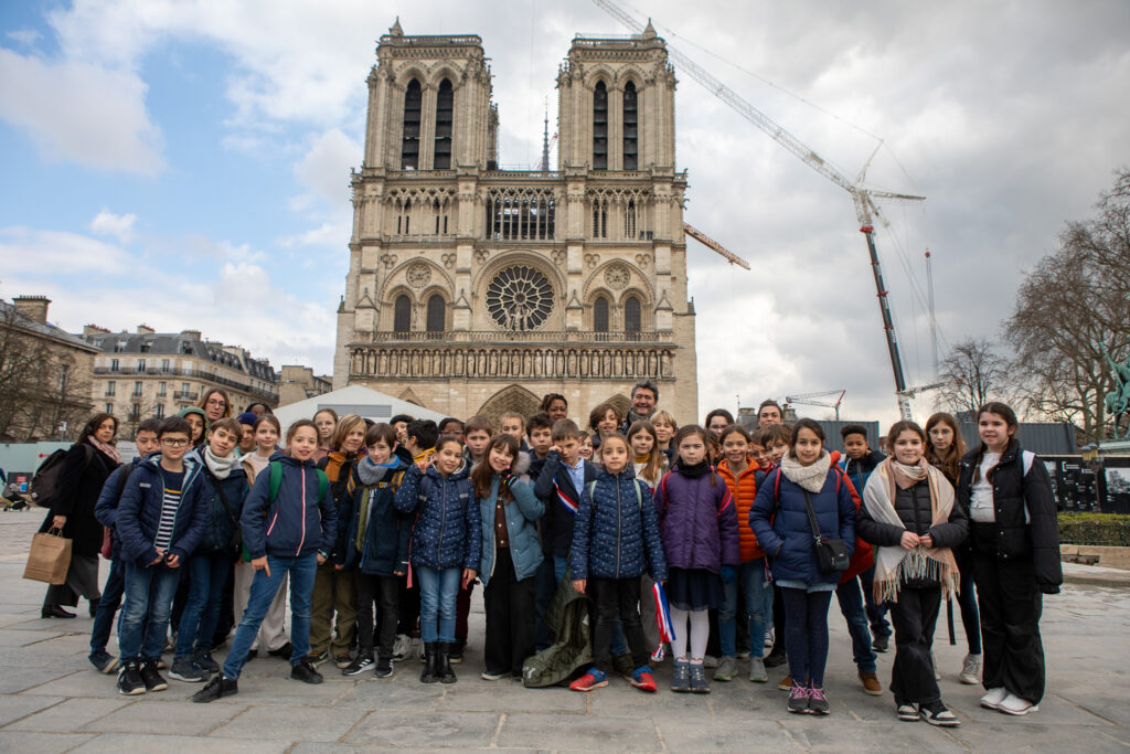
[[[247,661],[251,643],[275,600],[282,578],[290,575],[290,678],[322,683],[311,665],[310,615],[318,566],[324,563],[337,539],[337,506],[325,473],[314,466],[318,427],[299,419],[286,433],[288,456],[275,453],[255,477],[240,517],[243,544],[255,571],[247,608],[232,640],[232,649],[217,673],[192,697],[214,702],[238,693],[240,671]]]

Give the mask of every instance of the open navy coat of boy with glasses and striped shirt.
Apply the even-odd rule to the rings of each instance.
[[[154,539],[160,523],[160,508],[165,497],[165,483],[160,474],[160,453],[140,461],[122,492],[114,525],[122,540],[121,558],[125,563],[145,567],[157,560]],[[208,520],[203,502],[203,477],[200,462],[192,456],[184,457],[184,479],[181,484],[181,503],[176,509],[173,536],[168,552],[181,562],[192,555]]]

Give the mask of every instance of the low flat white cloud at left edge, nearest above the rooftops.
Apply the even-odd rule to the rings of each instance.
[[[0,228],[0,259],[5,276],[35,275],[98,278],[130,269],[131,258],[120,248],[89,236],[20,226]]]

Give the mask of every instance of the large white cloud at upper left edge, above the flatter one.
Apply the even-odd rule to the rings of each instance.
[[[0,119],[25,131],[47,162],[157,174],[165,162],[145,109],[147,88],[129,71],[0,49]]]

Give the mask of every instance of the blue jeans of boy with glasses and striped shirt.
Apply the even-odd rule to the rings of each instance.
[[[165,648],[173,597],[181,569],[164,563],[141,567],[125,564],[125,605],[118,625],[118,650],[127,660],[156,660]]]

